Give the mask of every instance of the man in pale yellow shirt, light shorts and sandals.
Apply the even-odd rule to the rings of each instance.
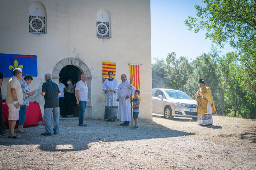
[[[19,120],[20,105],[23,103],[22,89],[20,86],[20,79],[22,77],[22,70],[15,68],[13,70],[13,77],[10,78],[7,84],[7,99],[8,106],[8,123],[9,123],[9,138],[20,138],[14,133],[14,127]]]

